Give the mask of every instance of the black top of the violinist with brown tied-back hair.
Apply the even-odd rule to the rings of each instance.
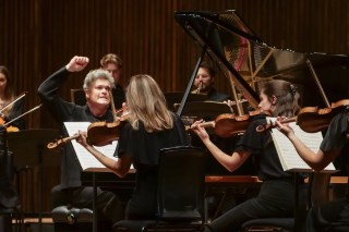
[[[252,119],[243,136],[236,144],[236,151],[251,152],[257,168],[257,175],[263,181],[292,179],[291,172],[285,172],[278,158],[270,131],[256,132],[257,125],[266,123],[265,115]]]

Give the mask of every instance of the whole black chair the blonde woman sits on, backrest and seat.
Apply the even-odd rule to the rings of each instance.
[[[172,147],[160,150],[158,170],[157,219],[122,220],[115,231],[203,231],[204,229],[204,150]]]

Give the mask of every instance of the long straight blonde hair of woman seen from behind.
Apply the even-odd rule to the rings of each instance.
[[[140,121],[148,133],[173,127],[173,118],[167,109],[165,96],[152,76],[132,76],[125,98],[131,112],[129,122],[134,130],[139,130]]]

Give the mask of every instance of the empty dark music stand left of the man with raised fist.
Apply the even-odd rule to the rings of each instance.
[[[38,167],[38,218],[43,231],[43,167],[59,166],[60,151],[48,149],[47,144],[60,137],[58,130],[35,129],[8,133],[8,147],[13,152],[15,167]],[[44,156],[45,154],[45,156]],[[53,156],[48,156],[55,154]]]

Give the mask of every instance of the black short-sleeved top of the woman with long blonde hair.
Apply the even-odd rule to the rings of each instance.
[[[117,155],[119,157],[132,156],[133,166],[136,169],[136,186],[129,203],[127,218],[149,219],[155,217],[159,150],[190,145],[182,121],[177,114],[173,114],[173,118],[174,126],[171,130],[148,133],[140,122],[137,131],[127,123],[120,132]]]

